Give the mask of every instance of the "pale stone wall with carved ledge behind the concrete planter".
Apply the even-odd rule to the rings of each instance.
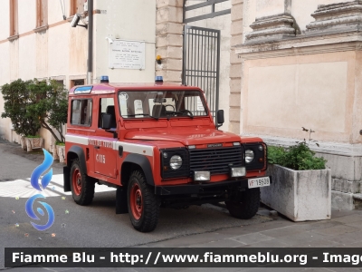
[[[308,139],[301,127],[316,131],[312,149],[329,160],[332,205],[354,209],[362,180],[362,1],[328,1],[311,17],[297,2],[244,0],[240,133],[290,146]]]

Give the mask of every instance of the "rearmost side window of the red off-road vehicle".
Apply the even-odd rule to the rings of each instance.
[[[71,101],[71,124],[90,127],[91,110],[91,99],[76,99]]]

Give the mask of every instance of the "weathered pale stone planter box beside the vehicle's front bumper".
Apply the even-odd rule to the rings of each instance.
[[[272,183],[261,188],[261,201],[293,221],[331,218],[331,171],[291,170],[270,164]]]

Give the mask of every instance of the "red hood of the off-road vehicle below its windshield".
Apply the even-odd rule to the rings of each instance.
[[[241,141],[240,136],[230,132],[199,128],[129,131],[125,138],[143,141],[178,141],[184,145]]]

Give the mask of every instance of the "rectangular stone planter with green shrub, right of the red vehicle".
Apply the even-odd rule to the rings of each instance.
[[[310,141],[268,147],[272,182],[261,189],[262,203],[293,221],[330,219],[331,171],[326,169],[327,160],[310,150]]]

